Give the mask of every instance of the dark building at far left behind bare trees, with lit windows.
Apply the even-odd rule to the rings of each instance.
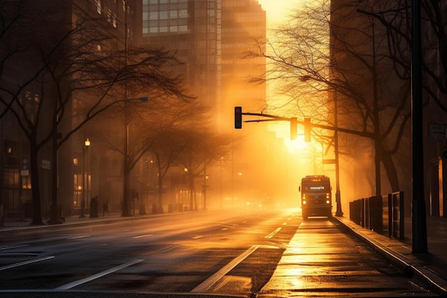
[[[44,75],[31,81],[31,83],[27,82],[26,79],[33,76],[33,71],[36,71],[32,67],[33,59],[26,51],[19,55],[19,51],[14,51],[14,48],[8,48],[7,46],[14,44],[16,41],[19,41],[19,44],[32,43],[34,36],[39,36],[39,41],[49,39],[54,42],[55,39],[71,30],[73,28],[72,24],[90,19],[99,22],[96,30],[106,30],[108,33],[107,40],[106,38],[96,39],[97,43],[89,45],[91,51],[101,51],[107,49],[107,47],[124,49],[126,44],[133,46],[136,24],[141,22],[141,14],[137,14],[135,4],[136,0],[2,1],[1,9],[11,9],[11,14],[2,14],[1,21],[7,23],[9,21],[8,17],[14,16],[12,12],[16,11],[17,7],[20,7],[22,14],[19,15],[16,23],[13,23],[13,25],[21,24],[21,26],[18,28],[11,26],[12,29],[8,28],[9,31],[2,32],[2,34],[6,33],[2,41],[6,41],[2,44],[4,47],[1,47],[0,59],[4,59],[6,63],[2,65],[0,86],[11,91],[11,94],[16,93],[18,101],[26,106],[24,114],[29,117],[31,122],[38,121],[34,117],[37,115],[39,105],[44,101],[43,94],[46,94],[46,101],[49,101],[49,94],[54,92],[54,86],[47,84],[48,80],[44,83],[44,79],[42,79]],[[48,25],[44,22],[45,18],[41,15],[43,14],[42,11],[46,11],[45,16],[51,21],[49,24],[60,24],[60,26],[54,26],[56,28],[45,27]],[[36,24],[33,24],[32,21],[36,21]],[[68,26],[64,26],[67,24]],[[45,36],[49,33],[42,28],[51,31],[53,36]],[[41,38],[41,36],[44,36],[44,38]],[[51,41],[43,43],[43,45],[36,41],[36,47],[42,46],[43,48],[46,44],[51,44]],[[14,56],[17,57],[16,61],[10,61],[11,59],[5,55],[11,49],[14,53],[13,59]],[[0,95],[2,99],[7,101],[12,98],[11,94],[4,91]],[[82,109],[83,102],[89,99],[94,99],[94,95],[85,94],[82,91],[75,91],[70,94],[69,98],[66,99],[68,103],[64,106],[66,116],[64,119],[66,120],[58,126],[58,132],[66,134],[67,131],[78,124],[79,118],[76,117],[76,113],[78,109]],[[39,122],[42,125],[39,126],[39,135],[45,135],[51,129],[53,111],[51,106],[41,107]],[[2,105],[0,114],[0,204],[3,205],[6,212],[13,214],[14,217],[18,217],[19,214],[29,217],[30,209],[32,209],[29,155],[30,150],[33,149],[11,111],[8,111]],[[24,115],[21,117],[23,118]],[[56,182],[58,184],[57,197],[59,204],[64,206],[64,212],[66,213],[80,209],[83,197],[87,199],[86,207],[88,207],[89,198],[101,192],[99,180],[109,182],[109,185],[102,187],[104,192],[107,192],[107,194],[104,193],[104,197],[113,194],[116,197],[118,196],[116,189],[111,189],[111,180],[108,177],[114,177],[117,180],[117,177],[122,175],[120,164],[122,158],[105,160],[108,157],[105,157],[104,154],[101,154],[101,156],[98,154],[101,151],[98,144],[96,144],[96,149],[91,147],[89,154],[86,154],[84,148],[86,137],[84,130],[81,130],[71,136],[69,141],[58,150],[57,164],[61,170],[58,172]],[[51,184],[53,183],[51,182],[51,170],[55,167],[51,160],[52,150],[51,141],[39,149],[41,210],[42,215],[46,218],[49,217],[49,205],[51,204]],[[85,170],[86,159],[91,162],[91,172]],[[105,169],[101,172],[104,174],[101,179],[99,179],[101,174],[99,164],[101,164],[102,169]],[[107,167],[108,164],[110,164],[109,167]],[[116,188],[119,189],[119,187]],[[22,212],[24,214],[21,214]]]

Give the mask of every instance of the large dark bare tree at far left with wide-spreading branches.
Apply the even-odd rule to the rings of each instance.
[[[128,96],[147,92],[154,97],[190,98],[181,77],[170,70],[179,61],[167,51],[124,49],[116,36],[101,27],[103,20],[79,15],[74,22],[70,18],[54,21],[63,12],[27,11],[29,14],[20,16],[19,25],[9,34],[7,40],[11,42],[2,43],[2,53],[9,55],[2,57],[1,69],[17,69],[19,65],[23,71],[18,84],[0,84],[0,102],[15,116],[29,141],[34,212],[31,224],[42,224],[38,155],[49,141],[54,174],[51,222],[57,222],[55,165],[62,144],[109,107],[130,102]],[[21,50],[8,47],[13,41],[22,45]],[[100,44],[101,49],[96,47]],[[6,71],[1,75],[1,81],[6,80]],[[32,114],[21,97],[28,88],[39,91]]]

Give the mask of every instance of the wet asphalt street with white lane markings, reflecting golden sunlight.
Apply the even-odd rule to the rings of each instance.
[[[278,292],[284,284],[294,293]],[[298,209],[180,212],[0,240],[2,297],[434,296],[419,286],[336,221],[303,221]]]

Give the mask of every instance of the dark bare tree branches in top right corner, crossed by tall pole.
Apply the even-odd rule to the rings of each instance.
[[[363,1],[365,4],[367,1]],[[373,17],[386,29],[388,55],[402,80],[411,77],[411,1],[399,0],[388,3],[378,1],[378,9],[359,6],[358,12]],[[423,89],[440,109],[447,111],[447,21],[443,1],[421,0],[422,26],[426,55],[421,57],[423,64]],[[438,59],[433,59],[438,57]]]

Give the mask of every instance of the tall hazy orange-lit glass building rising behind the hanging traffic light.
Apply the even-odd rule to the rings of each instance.
[[[265,61],[241,59],[255,38],[266,36],[266,13],[257,0],[143,0],[141,44],[176,51],[179,69],[216,125],[230,126],[231,106],[265,102],[265,86],[251,86]],[[257,66],[257,67],[256,67]]]

